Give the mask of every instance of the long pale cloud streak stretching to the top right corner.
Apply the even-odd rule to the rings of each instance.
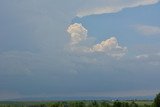
[[[93,2],[93,1],[90,1],[90,2]],[[117,3],[115,3],[114,1],[112,3],[112,2],[109,2],[108,0],[106,1],[97,0],[94,2],[94,3],[97,3],[96,6],[86,7],[85,9],[80,10],[77,13],[77,16],[84,17],[88,15],[95,15],[95,14],[116,13],[125,8],[133,8],[133,7],[156,4],[159,1],[160,0],[128,0],[128,1],[119,0],[119,1],[116,1]]]

